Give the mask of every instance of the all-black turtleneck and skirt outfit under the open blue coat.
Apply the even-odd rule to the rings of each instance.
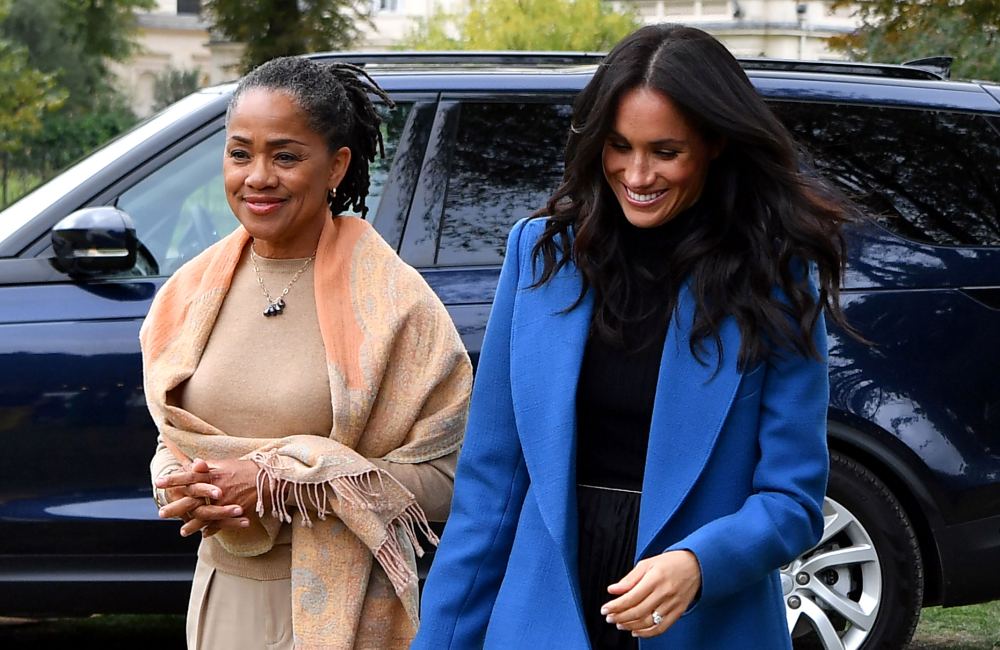
[[[638,639],[608,624],[608,585],[634,565],[642,477],[672,293],[667,279],[676,224],[622,227],[638,291],[625,305],[622,340],[592,327],[576,391],[578,579],[595,650],[637,650]],[[615,488],[613,490],[594,489]],[[620,490],[631,490],[622,492]]]

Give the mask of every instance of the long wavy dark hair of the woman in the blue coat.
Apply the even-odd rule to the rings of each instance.
[[[536,216],[548,216],[534,248],[542,262],[536,283],[575,264],[594,290],[592,327],[623,340],[630,296],[642,270],[623,247],[627,224],[602,169],[602,152],[624,93],[650,88],[668,97],[708,142],[722,140],[697,203],[681,222],[669,254],[663,299],[676,305],[685,282],[696,301],[691,351],[719,336],[727,316],[742,337],[738,367],[772,352],[818,357],[813,328],[823,310],[853,332],[840,310],[843,224],[853,210],[818,177],[803,171],[797,147],[743,69],[715,38],[691,27],[650,25],[622,40],[599,66],[573,106],[562,184]],[[572,231],[572,237],[570,235]],[[819,295],[809,286],[818,271]],[[778,291],[776,291],[776,289]]]

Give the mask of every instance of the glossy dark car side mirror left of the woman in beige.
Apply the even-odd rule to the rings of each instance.
[[[77,210],[52,228],[55,266],[74,278],[128,271],[137,242],[132,217],[110,205]]]

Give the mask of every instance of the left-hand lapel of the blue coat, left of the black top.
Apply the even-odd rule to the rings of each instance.
[[[511,342],[511,396],[532,493],[575,584],[577,552],[576,384],[593,310],[568,265],[537,288],[521,288]]]

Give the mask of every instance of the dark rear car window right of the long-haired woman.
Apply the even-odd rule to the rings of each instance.
[[[983,116],[778,102],[816,168],[903,237],[1000,246],[1000,135]]]

